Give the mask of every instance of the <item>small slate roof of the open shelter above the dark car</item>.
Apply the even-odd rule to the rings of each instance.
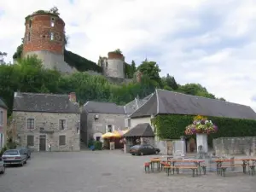
[[[126,132],[123,137],[154,137],[154,131],[148,123],[138,124]]]

